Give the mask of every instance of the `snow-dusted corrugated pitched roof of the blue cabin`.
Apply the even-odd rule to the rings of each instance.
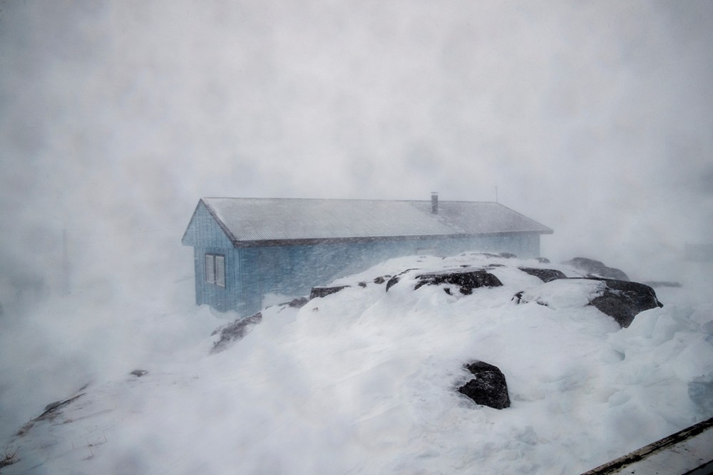
[[[255,241],[551,234],[496,202],[376,199],[202,198],[235,245]],[[200,206],[200,204],[199,204]]]

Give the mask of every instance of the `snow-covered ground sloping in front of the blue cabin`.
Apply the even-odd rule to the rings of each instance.
[[[596,291],[586,281],[544,286],[513,267],[576,275],[562,265],[496,259],[506,266],[491,272],[504,286],[468,296],[443,285],[414,291],[409,278],[389,292],[374,283],[485,259],[387,261],[302,308],[268,308],[245,338],[213,355],[210,330],[237,315],[144,309],[137,348],[153,339],[153,350],[83,389],[75,376],[53,400],[80,397],[22,436],[13,435],[22,424],[5,430],[0,447],[17,461],[0,472],[578,474],[713,415],[708,268],[680,288],[658,288],[665,306],[625,329],[586,305]],[[518,305],[518,291],[550,306]],[[503,370],[511,407],[481,407],[454,390],[474,359]],[[136,369],[148,374],[129,374]],[[3,404],[22,397],[2,395]]]

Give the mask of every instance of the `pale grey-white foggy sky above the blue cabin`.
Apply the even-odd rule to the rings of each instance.
[[[183,229],[222,195],[497,185],[555,229],[545,255],[711,241],[710,1],[0,5],[5,273],[57,268],[63,227],[75,273],[169,244],[190,269]]]

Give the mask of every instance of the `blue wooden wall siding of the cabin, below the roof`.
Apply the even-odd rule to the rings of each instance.
[[[538,256],[540,252],[538,231],[239,248],[233,246],[229,234],[230,231],[226,234],[201,201],[195,208],[182,242],[194,248],[196,303],[205,303],[221,311],[236,310],[244,315],[260,310],[267,294],[304,296],[313,286],[364,271],[369,266],[393,257],[426,253],[447,256],[464,251],[488,251],[509,252],[528,258]],[[206,254],[225,256],[225,287],[207,282]]]

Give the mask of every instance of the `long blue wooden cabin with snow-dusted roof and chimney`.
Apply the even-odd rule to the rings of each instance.
[[[397,256],[540,254],[552,229],[496,202],[202,198],[183,234],[195,301],[255,313],[266,296],[310,288]]]

